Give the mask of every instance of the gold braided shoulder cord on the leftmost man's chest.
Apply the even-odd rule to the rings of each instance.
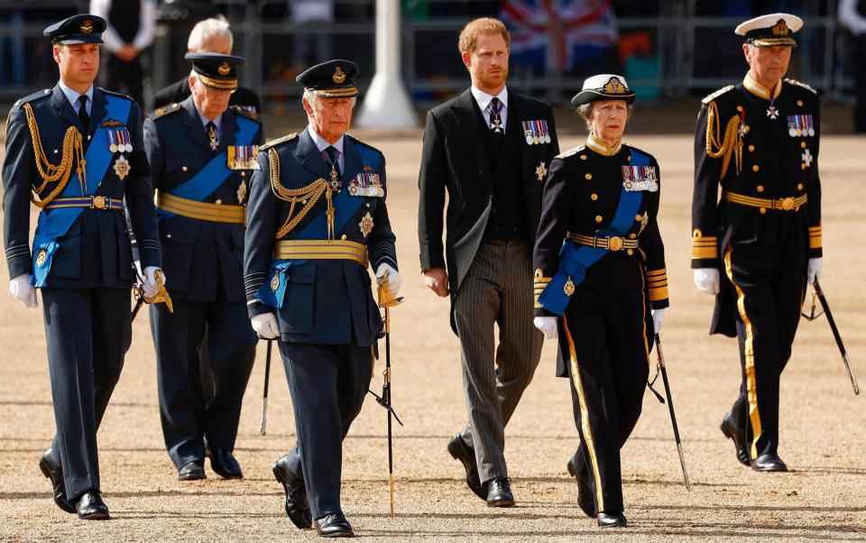
[[[76,172],[78,180],[82,187],[87,187],[87,179],[85,169],[87,161],[84,160],[84,144],[81,133],[75,126],[69,126],[66,129],[66,134],[63,136],[63,154],[60,159],[60,164],[54,165],[48,160],[45,155],[45,150],[42,149],[42,141],[39,135],[39,126],[36,124],[36,116],[33,115],[33,109],[30,104],[24,104],[24,113],[27,116],[27,128],[30,129],[30,137],[33,143],[33,155],[36,158],[36,169],[39,170],[39,175],[42,178],[42,184],[37,189],[32,189],[31,200],[36,207],[45,207],[51,200],[57,198],[57,195],[66,188],[69,183],[69,175],[72,173],[72,161],[78,163]],[[54,181],[58,181],[57,187],[51,191],[51,194],[45,198],[40,197],[40,193],[45,186]],[[83,189],[82,189],[83,190]],[[83,192],[82,192],[83,193]]]

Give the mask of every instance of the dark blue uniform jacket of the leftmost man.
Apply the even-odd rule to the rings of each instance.
[[[88,134],[84,144],[109,145],[107,138],[93,135],[106,119],[106,96],[132,102],[125,128],[130,134],[133,151],[112,153],[96,195],[113,199],[125,198],[132,219],[135,238],[141,248],[142,266],[160,265],[159,235],[153,211],[152,186],[147,156],[142,143],[142,115],[132,98],[103,88],[94,88]],[[69,126],[83,131],[78,115],[63,95],[60,86],[33,93],[15,102],[6,121],[6,149],[3,161],[5,254],[9,277],[32,273],[30,250],[31,189],[42,184],[33,152],[32,134],[28,129],[24,104],[32,106],[39,129],[41,147],[52,164],[60,164],[63,137]],[[123,125],[114,128],[121,129]],[[108,151],[106,151],[108,152]],[[130,170],[121,179],[115,163],[124,156]],[[73,164],[73,173],[76,164]],[[123,171],[123,170],[121,170]],[[90,180],[92,182],[92,179]],[[73,182],[69,179],[69,182]],[[51,193],[56,182],[49,183],[41,197]],[[42,213],[51,213],[51,209]],[[122,211],[85,208],[65,235],[57,241],[60,248],[54,255],[46,287],[66,289],[112,288],[128,289],[133,280],[132,251],[129,233]]]

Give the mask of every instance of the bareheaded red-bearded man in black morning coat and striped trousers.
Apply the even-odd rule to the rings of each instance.
[[[514,504],[504,427],[539,364],[532,247],[548,164],[559,152],[550,106],[505,86],[509,41],[495,19],[465,26],[459,49],[472,87],[428,113],[419,173],[421,270],[428,288],[451,294],[469,411],[447,448],[492,507]]]

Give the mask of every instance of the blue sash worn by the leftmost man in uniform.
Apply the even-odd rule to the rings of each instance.
[[[129,119],[129,110],[132,102],[121,97],[106,95],[106,116],[99,119],[100,124],[93,138],[90,140],[88,152],[85,154],[87,161],[87,191],[82,194],[78,173],[69,177],[69,183],[60,192],[59,198],[80,197],[93,195],[99,189],[102,179],[106,177],[106,171],[113,159],[106,142],[106,127],[102,126],[105,119],[116,119],[123,124]],[[95,122],[91,120],[91,122]],[[69,228],[75,223],[84,207],[59,207],[54,209],[42,209],[39,214],[39,223],[36,225],[36,234],[33,235],[33,286],[40,288],[45,286],[45,280],[51,272],[51,262],[54,262],[54,254],[60,249],[58,239],[69,232]]]

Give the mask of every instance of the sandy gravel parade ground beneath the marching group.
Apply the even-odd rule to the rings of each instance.
[[[493,510],[465,486],[447,439],[465,422],[456,337],[447,300],[422,285],[416,235],[419,135],[358,133],[388,160],[389,200],[405,302],[392,310],[396,515],[388,512],[385,411],[372,397],[344,446],[343,506],[359,536],[388,540],[820,539],[866,540],[866,393],[855,397],[825,318],[801,321],[781,388],[781,446],[788,474],[739,465],[718,429],[739,387],[736,342],[706,335],[712,299],[696,291],[689,269],[693,143],[683,136],[635,136],[661,168],[659,211],[667,250],[671,308],[662,336],[691,492],[682,483],[668,410],[648,391],[637,428],[622,450],[628,529],[602,531],[576,506],[566,461],[577,444],[568,383],[554,377],[545,344],[535,380],[506,430],[506,459],[517,507]],[[581,143],[562,136],[563,149]],[[824,287],[866,387],[866,139],[827,136],[824,188]],[[0,266],[0,283],[6,268]],[[170,281],[170,278],[169,278]],[[274,460],[294,442],[284,372],[275,350],[268,433],[259,434],[264,343],[244,400],[235,454],[243,481],[222,481],[207,467],[202,482],[179,483],[165,453],[156,371],[145,315],[99,431],[102,490],[113,520],[85,522],[51,502],[37,462],[54,429],[41,309],[0,293],[0,540],[247,541],[301,540],[282,511]],[[807,298],[809,299],[809,298]],[[372,388],[381,387],[382,361]],[[659,379],[659,385],[660,385]],[[660,390],[660,389],[659,389]]]

